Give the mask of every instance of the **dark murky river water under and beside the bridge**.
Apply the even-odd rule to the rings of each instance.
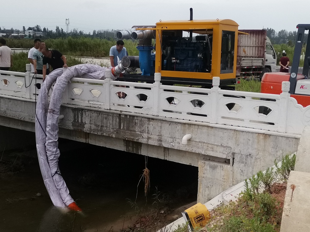
[[[135,222],[139,212],[155,207],[156,187],[159,209],[171,211],[197,199],[197,167],[148,157],[151,187],[145,198],[144,183],[139,183],[144,156],[64,139],[59,140],[59,148],[61,173],[83,212],[63,212],[52,205],[35,148],[4,152],[0,232],[121,231]]]

